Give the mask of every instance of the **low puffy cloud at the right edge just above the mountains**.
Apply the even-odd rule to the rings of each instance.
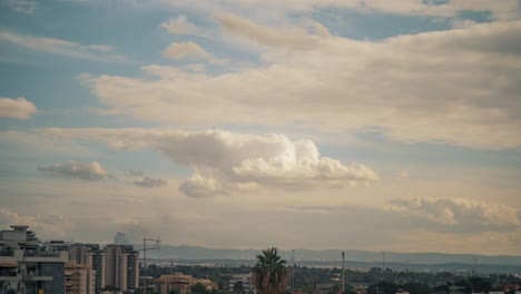
[[[458,232],[485,232],[515,229],[521,226],[519,212],[504,206],[466,198],[396,198],[390,200],[392,212],[403,216],[427,219],[443,229]]]

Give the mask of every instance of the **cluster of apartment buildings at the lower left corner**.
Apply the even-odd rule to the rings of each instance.
[[[43,243],[28,226],[0,231],[0,294],[101,294],[139,287],[131,245]]]

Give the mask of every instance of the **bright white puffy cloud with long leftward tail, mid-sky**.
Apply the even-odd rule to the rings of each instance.
[[[379,175],[365,165],[346,165],[321,156],[311,140],[291,140],[276,134],[59,128],[41,129],[39,134],[61,139],[106,141],[117,149],[155,148],[174,163],[194,169],[194,175],[179,187],[188,196],[224,195],[258,187],[337,187],[379,179]]]

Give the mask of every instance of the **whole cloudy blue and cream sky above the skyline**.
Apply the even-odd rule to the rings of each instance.
[[[3,0],[0,225],[521,255],[521,1]]]

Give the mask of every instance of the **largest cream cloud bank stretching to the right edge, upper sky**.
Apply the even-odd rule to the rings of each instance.
[[[299,125],[374,130],[405,143],[515,148],[520,36],[521,21],[514,21],[383,41],[314,38],[318,46],[269,50],[266,65],[232,72],[147,66],[155,77],[102,75],[85,85],[109,110],[194,128]]]

